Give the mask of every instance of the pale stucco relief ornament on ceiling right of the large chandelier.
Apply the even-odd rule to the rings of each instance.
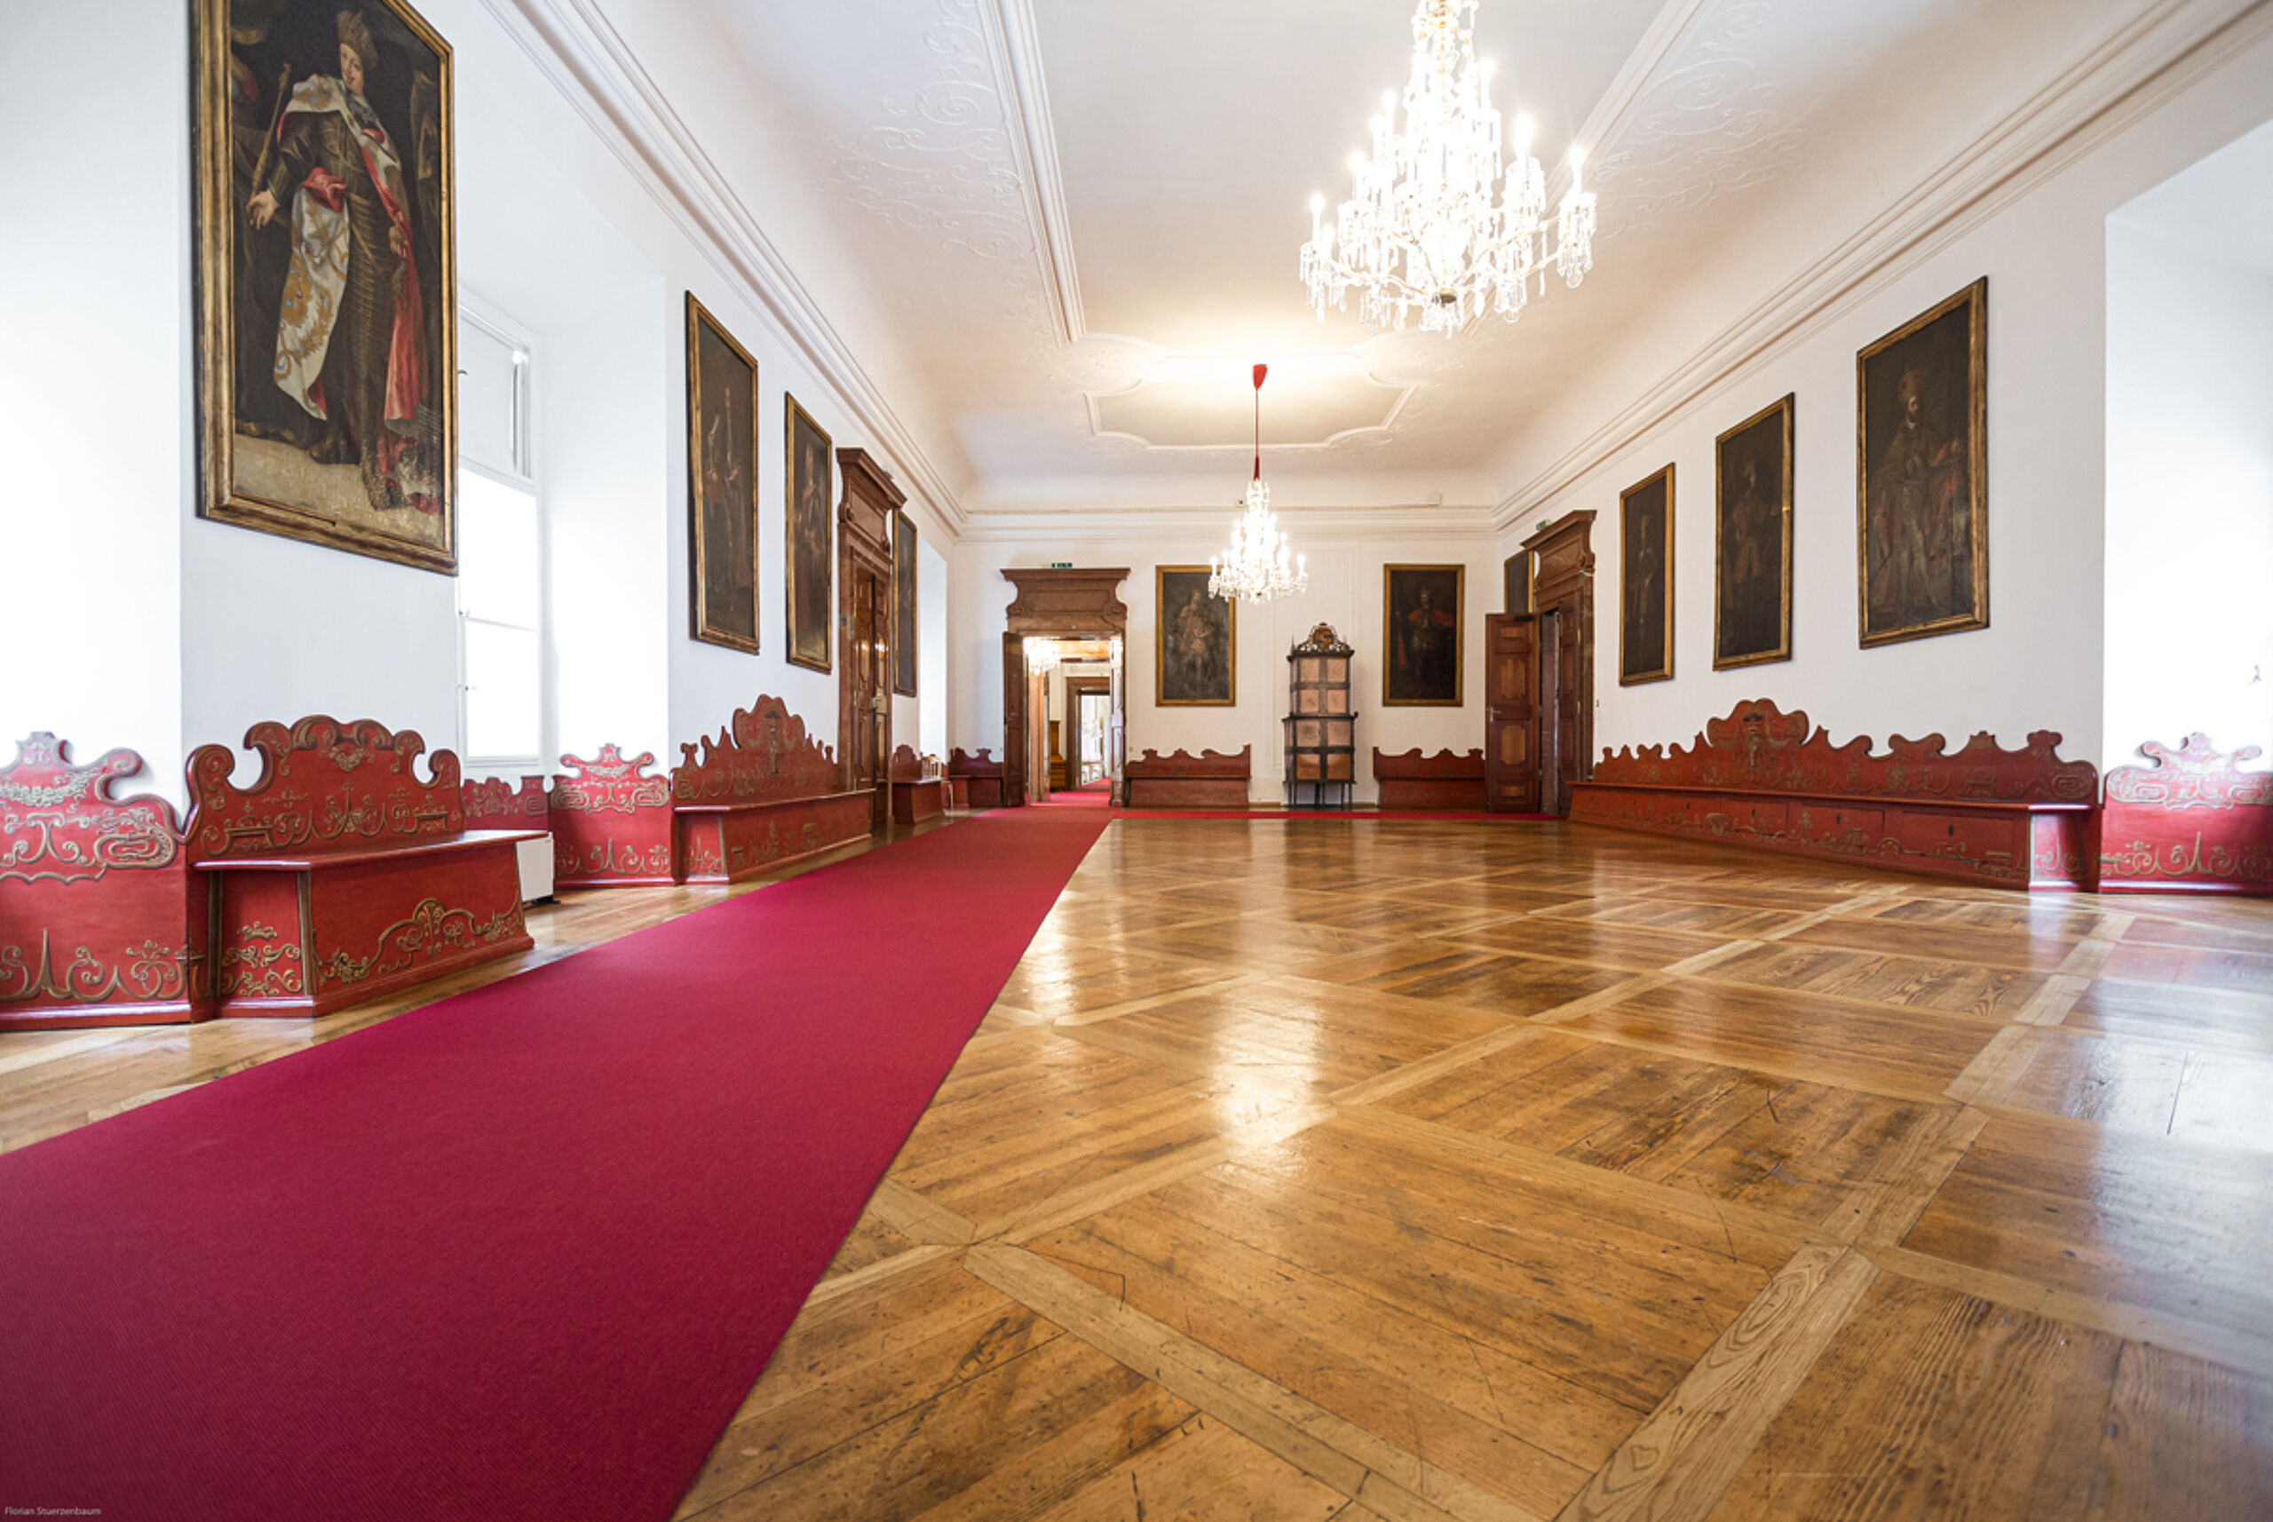
[[[1748,52],[1784,9],[1780,0],[1716,7],[1634,100],[1596,175],[1614,209],[1605,243],[1800,164],[1807,134]]]

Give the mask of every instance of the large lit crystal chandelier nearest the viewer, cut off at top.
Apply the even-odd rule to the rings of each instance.
[[[1577,286],[1593,268],[1593,193],[1580,191],[1582,152],[1571,150],[1571,193],[1552,218],[1532,157],[1530,120],[1516,118],[1516,157],[1500,173],[1500,114],[1491,109],[1491,64],[1475,61],[1468,27],[1477,0],[1421,0],[1414,7],[1414,77],[1405,86],[1405,132],[1396,95],[1373,118],[1373,157],[1350,154],[1350,200],[1323,220],[1325,198],[1309,198],[1302,284],[1312,311],[1348,307],[1373,327],[1455,334],[1468,318],[1523,316],[1530,277],[1562,273]]]

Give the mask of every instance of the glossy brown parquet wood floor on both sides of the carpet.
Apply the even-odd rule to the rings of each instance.
[[[0,1036],[0,1147],[405,1006]],[[2273,904],[1121,820],[680,1517],[2268,1517],[2268,1097]]]

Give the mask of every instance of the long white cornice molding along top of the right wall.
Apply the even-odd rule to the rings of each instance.
[[[1493,527],[1505,532],[1739,370],[1821,332],[2268,34],[2273,0],[2162,0],[2118,27],[1903,200],[1500,497]]]

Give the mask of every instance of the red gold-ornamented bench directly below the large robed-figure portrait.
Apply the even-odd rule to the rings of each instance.
[[[323,1015],[530,950],[514,843],[536,829],[466,829],[457,756],[414,763],[416,731],[327,716],[255,725],[250,788],[236,756],[189,759],[189,865],[214,925],[223,1015]]]

